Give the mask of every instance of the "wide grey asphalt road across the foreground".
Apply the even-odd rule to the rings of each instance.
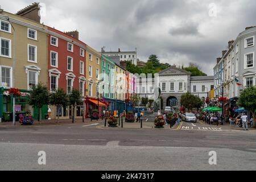
[[[253,131],[216,126],[217,130],[210,130],[204,123],[184,122],[180,130],[102,129],[100,125],[0,127],[0,170],[241,171],[256,167]],[[46,165],[38,164],[39,151],[46,152]],[[210,151],[216,151],[216,165],[209,164]]]

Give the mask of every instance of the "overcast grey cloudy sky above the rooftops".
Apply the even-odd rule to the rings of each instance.
[[[30,0],[0,0],[10,13]],[[200,65],[213,75],[216,57],[247,26],[256,25],[254,0],[41,0],[44,24],[78,30],[80,39],[100,51],[138,49],[140,60],[158,55],[162,63]],[[72,2],[72,3],[71,3]],[[216,16],[211,3],[216,5]],[[210,5],[210,7],[209,7]]]

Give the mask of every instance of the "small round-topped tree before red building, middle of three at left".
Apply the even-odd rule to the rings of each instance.
[[[62,106],[65,107],[68,105],[68,96],[62,88],[58,89],[56,92],[53,92],[50,94],[49,103],[57,107],[57,113],[58,113],[57,122],[59,123],[59,118],[60,118],[59,109]]]

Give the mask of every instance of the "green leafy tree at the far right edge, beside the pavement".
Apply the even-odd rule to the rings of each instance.
[[[255,121],[255,109],[256,109],[256,87],[252,86],[250,88],[244,89],[240,97],[238,98],[238,105],[240,107],[245,107],[246,110],[253,113],[253,118]],[[255,123],[254,123],[255,127]]]

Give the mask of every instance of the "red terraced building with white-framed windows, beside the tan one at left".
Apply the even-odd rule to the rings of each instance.
[[[77,105],[75,117],[81,117],[85,100],[85,61],[86,44],[78,40],[78,32],[61,32],[48,27],[48,88],[55,92],[58,88],[71,93],[72,89],[80,90],[81,104]],[[69,34],[69,35],[68,35]],[[76,39],[77,38],[77,39]],[[51,117],[70,118],[73,113],[70,107],[57,109],[51,106]]]

